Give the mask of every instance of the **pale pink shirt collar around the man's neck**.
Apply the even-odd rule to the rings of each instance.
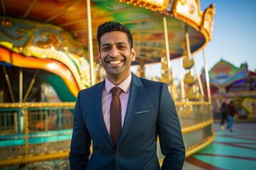
[[[118,87],[121,88],[122,91],[124,91],[127,94],[131,86],[131,82],[132,82],[132,74],[130,73],[129,76],[126,79],[124,79],[124,81],[122,81],[121,84],[118,85]],[[112,84],[110,80],[107,79],[107,77],[105,77],[105,89],[107,91],[107,94],[110,93],[110,90],[113,87],[114,87],[114,84]]]

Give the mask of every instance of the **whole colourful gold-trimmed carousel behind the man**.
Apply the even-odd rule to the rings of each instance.
[[[215,137],[210,94],[204,98],[193,53],[211,40],[214,13],[214,4],[201,11],[199,0],[2,0],[0,167],[68,157],[78,91],[104,77],[96,31],[106,21],[131,30],[137,50],[132,64],[141,77],[145,64],[162,64],[186,155],[209,145]],[[181,60],[185,70],[179,94],[171,60]],[[160,162],[162,157],[159,150]]]

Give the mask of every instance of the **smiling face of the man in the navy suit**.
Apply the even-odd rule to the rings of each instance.
[[[106,71],[107,78],[128,77],[132,61],[135,61],[135,49],[130,49],[126,33],[112,31],[100,38],[99,60]]]

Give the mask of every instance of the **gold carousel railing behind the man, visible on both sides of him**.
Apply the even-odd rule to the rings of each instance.
[[[70,150],[75,102],[0,103],[0,167],[65,159]],[[215,135],[209,102],[177,102],[186,157]],[[159,144],[158,144],[159,145]],[[159,160],[163,158],[158,149]]]

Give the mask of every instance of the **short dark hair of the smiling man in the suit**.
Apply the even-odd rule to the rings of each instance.
[[[97,28],[97,42],[98,42],[99,48],[101,45],[100,38],[102,37],[102,35],[112,31],[122,31],[123,33],[126,33],[129,45],[131,48],[133,47],[132,34],[128,28],[123,26],[121,23],[106,22],[106,23],[102,23],[102,25],[100,25]]]

